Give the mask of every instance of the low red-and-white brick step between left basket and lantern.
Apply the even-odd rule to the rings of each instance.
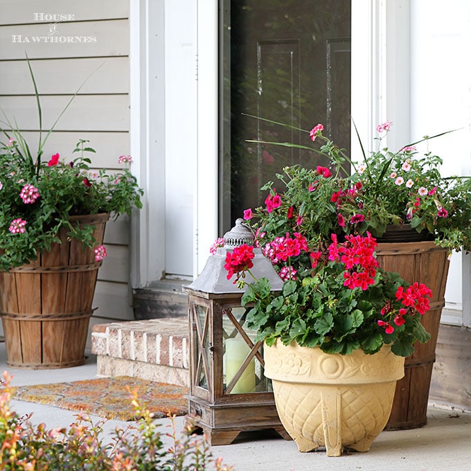
[[[173,317],[93,326],[97,374],[189,386],[188,319]]]

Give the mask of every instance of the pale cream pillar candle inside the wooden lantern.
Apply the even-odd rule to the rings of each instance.
[[[240,365],[249,354],[249,346],[244,339],[226,339],[226,353],[224,354],[224,374],[226,375],[226,384],[229,384],[232,378],[238,372]],[[251,359],[244,373],[240,376],[238,382],[233,387],[232,394],[253,393],[255,391],[255,360]]]

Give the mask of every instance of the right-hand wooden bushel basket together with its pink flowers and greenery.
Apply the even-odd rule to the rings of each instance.
[[[268,193],[265,205],[247,209],[245,219],[266,253],[270,242],[286,233],[302,233],[309,247],[325,247],[332,233],[341,240],[346,234],[369,231],[378,238],[376,256],[384,269],[431,288],[432,309],[423,322],[432,337],[407,357],[405,378],[398,382],[387,425],[402,429],[427,423],[449,256],[452,250],[471,248],[471,180],[443,177],[441,158],[428,149],[419,153],[421,144],[446,133],[391,152],[383,144],[391,126],[389,122],[377,126],[377,150],[368,156],[363,152],[357,161],[323,136],[321,124],[306,132],[313,146],[258,141],[267,148],[312,150],[329,164],[284,168],[276,183],[263,187]]]

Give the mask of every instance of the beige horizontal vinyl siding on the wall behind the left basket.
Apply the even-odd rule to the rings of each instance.
[[[97,152],[94,168],[118,168],[118,156],[130,153],[129,1],[0,0],[0,11],[0,106],[33,152],[39,123],[26,53],[41,95],[43,130],[88,78],[46,143],[45,158],[59,152],[69,159],[75,143],[88,139]],[[54,14],[73,19],[46,16]],[[129,225],[127,216],[107,224],[94,322],[133,317]]]

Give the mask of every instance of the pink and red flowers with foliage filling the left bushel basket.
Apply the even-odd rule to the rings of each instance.
[[[80,240],[85,247],[94,247],[93,226],[79,226],[73,221],[75,215],[109,213],[118,217],[130,214],[133,207],[142,207],[143,190],[130,172],[130,156],[118,158],[123,169],[117,172],[92,171],[89,155],[95,151],[85,140],[80,140],[73,149],[75,158],[64,158],[59,153],[44,156],[44,144],[78,91],[43,136],[42,109],[29,60],[28,67],[39,114],[39,143],[35,154],[16,121],[1,109],[0,131],[4,138],[0,139],[1,270],[35,260],[38,253],[48,251],[51,243],[60,242],[58,233],[62,228],[68,231],[68,237]],[[105,247],[95,247],[95,254],[96,260],[101,260],[106,256]]]

